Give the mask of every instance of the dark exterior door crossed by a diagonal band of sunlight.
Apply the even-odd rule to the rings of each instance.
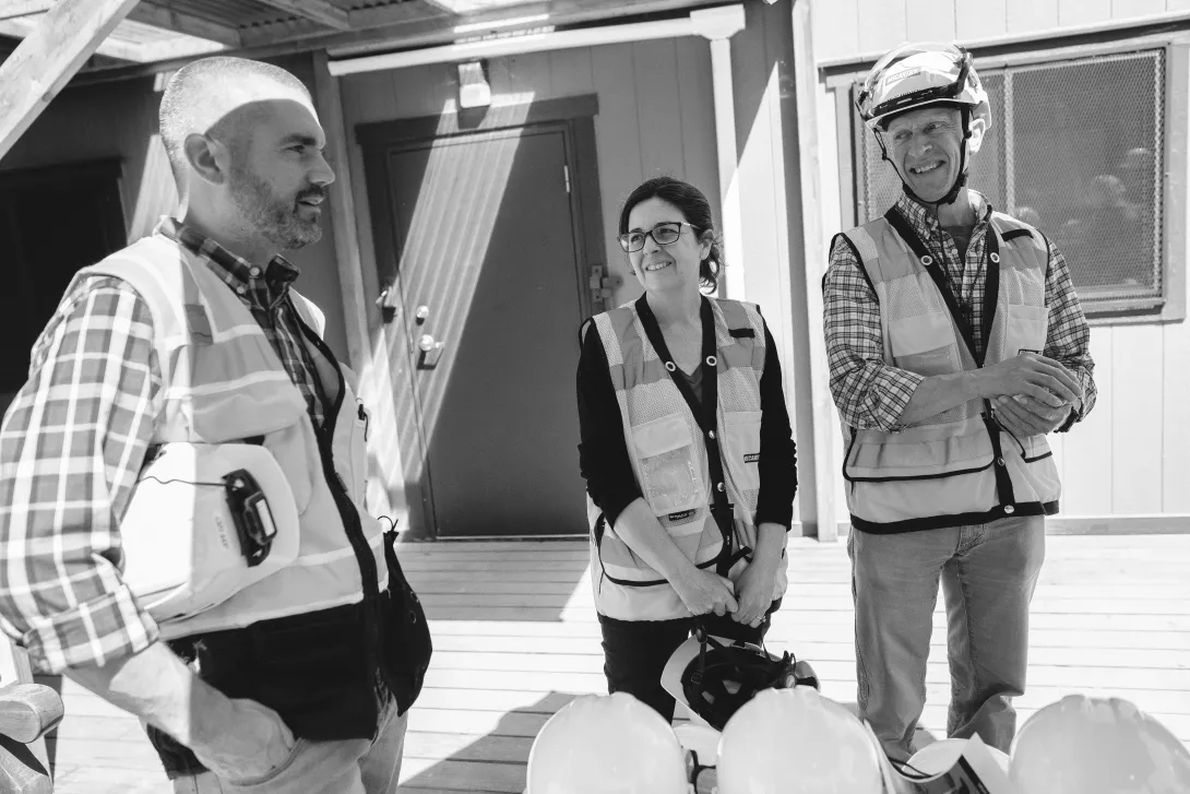
[[[390,371],[413,381],[394,394],[414,402],[416,432],[400,445],[419,533],[587,532],[575,408],[585,285],[566,136],[515,127],[387,152],[403,337],[389,350],[408,357]]]

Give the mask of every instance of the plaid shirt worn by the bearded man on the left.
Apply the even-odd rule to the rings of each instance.
[[[155,233],[236,290],[321,424],[313,362],[286,301],[298,269],[278,256],[262,274],[168,218]],[[158,636],[120,580],[119,519],[161,407],[148,306],[119,279],[81,280],[35,344],[0,425],[0,629],[40,673],[102,665]]]

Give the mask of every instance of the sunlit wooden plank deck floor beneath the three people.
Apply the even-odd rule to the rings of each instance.
[[[401,556],[436,640],[409,718],[401,792],[520,794],[545,720],[576,694],[606,692],[585,543],[406,544]],[[769,645],[809,661],[823,694],[853,705],[845,548],[796,538],[790,559]],[[1020,720],[1075,692],[1123,696],[1190,742],[1188,569],[1190,536],[1047,538]],[[933,624],[922,725],[941,736],[950,695],[941,602]],[[58,794],[169,790],[134,718],[69,681],[61,688],[67,719],[50,740]]]

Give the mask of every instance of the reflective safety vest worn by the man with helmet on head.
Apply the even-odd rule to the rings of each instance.
[[[987,238],[984,358],[935,262],[892,208],[844,235],[876,289],[884,361],[919,375],[945,375],[1045,349],[1048,246],[1035,229],[992,213]],[[1045,436],[1000,430],[984,400],[895,432],[844,426],[851,523],[865,532],[984,524],[1058,511],[1061,486]]]

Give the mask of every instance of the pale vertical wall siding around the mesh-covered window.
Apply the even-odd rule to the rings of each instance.
[[[1186,0],[841,0],[814,2],[814,56],[819,62],[865,61],[907,39],[959,43],[1127,21],[1190,10]],[[908,30],[903,20],[910,20]],[[839,205],[840,145],[833,92],[820,82],[819,135],[823,223],[846,223]],[[1172,101],[1185,102],[1186,98]],[[1177,185],[1177,183],[1176,183]],[[1182,181],[1178,189],[1185,190]],[[1186,223],[1190,219],[1184,219]],[[1183,265],[1184,267],[1184,265]],[[1069,434],[1052,434],[1064,495],[1061,515],[1117,518],[1190,514],[1190,323],[1095,325],[1091,330],[1098,404]],[[841,438],[834,455],[841,461]],[[837,498],[845,505],[841,476]],[[845,507],[841,517],[845,518]],[[1125,521],[1126,523],[1126,521]]]

